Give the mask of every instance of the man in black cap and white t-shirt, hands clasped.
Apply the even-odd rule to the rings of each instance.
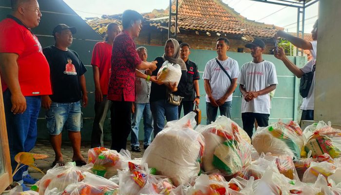
[[[252,137],[255,120],[259,127],[269,124],[269,93],[276,89],[278,81],[275,65],[262,57],[265,43],[261,39],[254,39],[245,47],[251,50],[253,60],[242,66],[238,82],[243,95],[243,128]]]

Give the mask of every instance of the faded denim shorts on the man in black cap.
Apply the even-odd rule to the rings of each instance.
[[[59,135],[63,127],[73,132],[79,132],[82,128],[82,112],[79,101],[73,103],[52,102],[45,117],[47,130],[52,136]]]

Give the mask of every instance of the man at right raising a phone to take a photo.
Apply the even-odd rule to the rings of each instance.
[[[282,37],[290,41],[293,45],[304,50],[310,50],[312,60],[308,61],[302,68],[297,67],[293,64],[284,54],[283,48],[278,48],[278,53],[275,52],[275,57],[281,59],[285,66],[297,77],[301,78],[303,74],[313,72],[312,83],[306,98],[303,98],[303,103],[301,105],[302,117],[301,120],[314,120],[314,94],[315,94],[315,66],[316,66],[316,53],[317,53],[317,24],[316,20],[313,30],[311,31],[311,37],[313,41],[306,41],[287,34],[283,31],[278,31],[276,33],[277,37]]]

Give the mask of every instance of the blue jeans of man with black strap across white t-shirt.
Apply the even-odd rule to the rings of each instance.
[[[221,116],[231,117],[232,101],[226,101],[223,105],[219,106],[219,111]],[[206,102],[206,115],[207,124],[215,121],[218,114],[218,107],[212,106],[210,102]]]

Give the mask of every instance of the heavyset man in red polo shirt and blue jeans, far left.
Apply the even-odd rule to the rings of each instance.
[[[51,94],[50,68],[38,38],[41,13],[37,0],[11,0],[12,14],[0,22],[0,72],[12,169],[14,157],[29,152],[37,138],[37,118],[42,95]],[[34,184],[28,167],[20,168],[14,181]],[[28,188],[23,185],[24,190]]]

